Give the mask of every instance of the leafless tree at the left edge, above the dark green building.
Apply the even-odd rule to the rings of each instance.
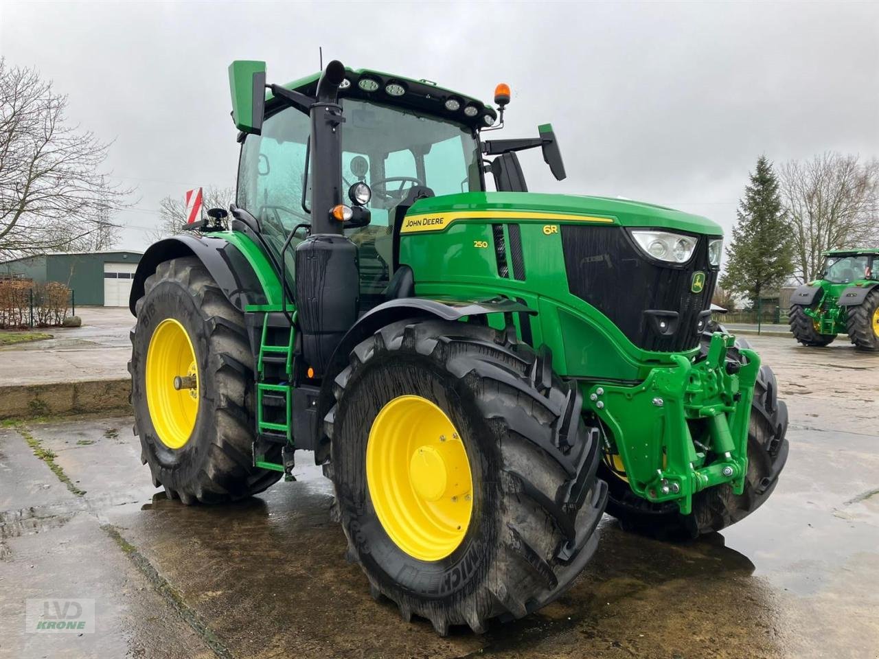
[[[132,191],[107,183],[109,143],[70,126],[67,101],[0,58],[0,258],[113,243],[108,218]]]

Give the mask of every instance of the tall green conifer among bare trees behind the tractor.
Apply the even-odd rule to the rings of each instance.
[[[787,214],[766,156],[758,158],[745,198],[739,201],[727,254],[720,285],[754,304],[761,294],[779,288],[794,270]]]

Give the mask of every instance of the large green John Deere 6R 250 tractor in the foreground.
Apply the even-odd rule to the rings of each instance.
[[[563,162],[548,124],[490,139],[505,85],[496,111],[339,62],[229,80],[236,203],[152,245],[131,295],[136,431],[167,496],[251,496],[313,452],[374,597],[445,634],[558,597],[606,506],[694,537],[770,495],[787,410],[711,324],[715,223],[527,192],[519,151]]]

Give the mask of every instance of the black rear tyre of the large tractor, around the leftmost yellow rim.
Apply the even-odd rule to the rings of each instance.
[[[163,487],[169,498],[189,504],[234,501],[277,482],[280,472],[252,463],[253,355],[243,315],[229,303],[204,265],[196,257],[159,264],[147,278],[135,311],[128,362],[134,434],[141,439],[141,460],[149,464],[153,484]],[[159,437],[147,399],[150,341],[166,319],[183,326],[198,364],[198,413],[192,433],[179,448],[171,448]]]

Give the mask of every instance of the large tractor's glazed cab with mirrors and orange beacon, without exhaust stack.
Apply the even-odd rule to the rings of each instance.
[[[233,85],[243,87],[245,97],[252,83],[251,64],[235,62],[230,68]],[[309,98],[316,97],[320,76],[283,86],[265,85],[270,91],[261,123],[257,113],[250,118],[236,116],[243,131],[236,205],[257,221],[265,242],[284,262],[291,287],[297,245],[308,235],[326,230],[315,226],[322,222],[314,220],[311,207],[316,158],[311,148]],[[251,97],[259,93],[262,90],[254,88]],[[498,85],[501,121],[509,98],[509,88]],[[549,148],[548,162],[563,177],[551,127],[543,127],[541,137],[534,140],[481,143],[480,131],[496,124],[498,112],[436,83],[371,69],[344,69],[337,99],[343,120],[333,127],[330,137],[340,135],[341,168],[337,175],[331,165],[333,180],[326,186],[335,191],[333,207],[345,206],[338,212],[352,215],[343,217],[342,234],[357,247],[360,315],[386,299],[399,265],[403,217],[415,201],[484,192],[487,172],[494,177],[496,189],[525,192],[527,185],[515,153],[522,148]],[[323,153],[317,152],[325,161]],[[502,157],[486,167],[483,154]]]

